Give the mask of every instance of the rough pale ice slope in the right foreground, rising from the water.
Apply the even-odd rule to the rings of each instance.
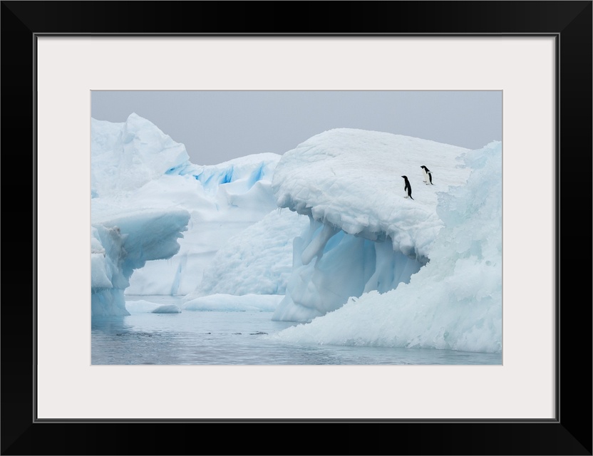
[[[463,159],[471,174],[465,185],[436,195],[443,226],[426,250],[430,261],[408,283],[351,296],[339,309],[270,337],[502,353],[502,143]]]

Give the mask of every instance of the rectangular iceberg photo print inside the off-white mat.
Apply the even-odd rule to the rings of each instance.
[[[93,366],[502,365],[502,90],[91,111]]]

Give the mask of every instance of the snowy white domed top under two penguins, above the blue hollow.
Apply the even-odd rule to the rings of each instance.
[[[438,191],[463,185],[467,152],[439,142],[391,133],[339,128],[320,133],[282,155],[272,190],[279,207],[311,215],[346,234],[376,240],[413,257],[428,257],[443,226],[435,207]],[[423,183],[430,164],[435,185]],[[408,175],[413,201],[404,198]]]

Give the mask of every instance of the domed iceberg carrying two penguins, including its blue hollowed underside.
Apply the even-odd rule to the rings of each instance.
[[[438,190],[463,185],[466,149],[390,133],[329,130],[286,152],[272,190],[310,219],[294,239],[293,274],[274,319],[310,321],[350,296],[408,283],[443,227]],[[421,166],[433,171],[423,182]],[[413,186],[405,198],[402,175]]]

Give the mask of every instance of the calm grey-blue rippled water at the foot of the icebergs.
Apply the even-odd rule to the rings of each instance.
[[[137,296],[176,304],[175,296]],[[128,298],[133,299],[133,298]],[[417,348],[294,345],[265,336],[298,323],[262,311],[182,311],[93,318],[93,365],[453,365],[502,364],[502,355]]]

